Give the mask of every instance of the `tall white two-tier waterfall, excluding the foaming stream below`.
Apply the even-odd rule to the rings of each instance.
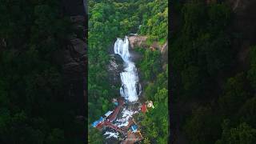
[[[130,60],[129,40],[128,38],[118,38],[114,43],[114,54],[119,54],[124,61],[125,69],[120,74],[122,86],[120,94],[129,102],[136,102],[138,95],[141,93],[141,85],[138,82],[138,72],[134,62]]]

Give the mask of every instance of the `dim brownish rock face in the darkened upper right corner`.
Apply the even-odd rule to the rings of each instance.
[[[256,44],[256,1],[228,0],[228,3],[234,12],[234,22],[230,28],[232,33],[238,34],[238,38],[233,39],[232,46],[239,51],[239,66],[246,69],[249,66],[249,48]]]

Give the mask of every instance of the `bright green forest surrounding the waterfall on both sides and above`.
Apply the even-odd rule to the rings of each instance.
[[[104,140],[101,132],[91,128],[90,124],[113,108],[111,98],[120,97],[120,85],[110,84],[110,74],[107,71],[110,62],[109,50],[116,38],[124,38],[131,33],[148,36],[148,43],[165,43],[168,34],[168,6],[166,0],[89,0],[88,5],[88,140],[89,143],[102,143]],[[166,143],[168,74],[167,69],[162,70],[160,52],[145,50],[147,48],[149,47],[136,48],[142,54],[137,67],[142,73],[140,79],[147,83],[143,94],[146,96],[143,97],[154,101],[155,109],[142,115],[142,133],[145,136],[144,143]],[[164,105],[160,105],[160,102],[164,102]],[[152,125],[152,122],[155,124]]]

